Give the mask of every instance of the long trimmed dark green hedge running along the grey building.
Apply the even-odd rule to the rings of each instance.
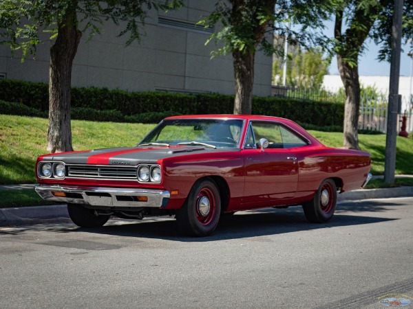
[[[0,100],[18,102],[27,108],[47,113],[49,107],[47,84],[6,79],[0,80],[0,89]],[[221,94],[186,95],[163,92],[127,92],[94,87],[72,88],[72,119],[149,123],[158,122],[158,119],[162,119],[165,115],[231,114],[233,113],[233,100],[233,95]],[[279,97],[255,97],[252,107],[255,115],[284,117],[295,122],[321,127],[343,125],[343,104]],[[32,110],[27,111],[34,113]],[[0,113],[3,113],[3,108]]]

